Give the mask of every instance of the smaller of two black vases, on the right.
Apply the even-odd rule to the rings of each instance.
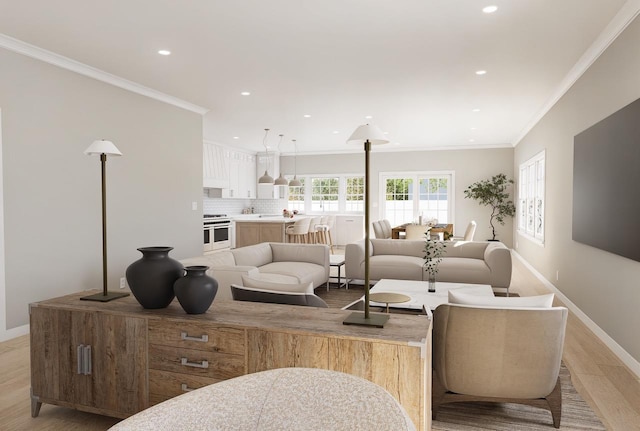
[[[173,290],[187,314],[206,312],[218,293],[218,282],[206,274],[208,266],[187,266],[187,274],[176,280]]]

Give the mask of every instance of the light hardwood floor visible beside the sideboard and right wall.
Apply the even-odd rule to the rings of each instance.
[[[548,292],[518,259],[511,286],[522,296]],[[607,429],[640,430],[640,380],[573,314],[567,324],[564,362],[574,386]],[[28,336],[0,343],[0,364],[2,431],[101,431],[118,422],[46,404],[38,418],[31,418]]]

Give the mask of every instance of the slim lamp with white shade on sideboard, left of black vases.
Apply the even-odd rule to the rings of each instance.
[[[111,141],[93,141],[89,148],[84,152],[86,155],[91,156],[94,154],[100,155],[100,165],[102,167],[102,293],[96,293],[95,295],[83,296],[82,300],[85,301],[100,301],[108,302],[114,299],[129,296],[125,292],[109,292],[107,291],[107,186],[106,186],[106,164],[107,155],[121,156],[120,150],[113,145]]]

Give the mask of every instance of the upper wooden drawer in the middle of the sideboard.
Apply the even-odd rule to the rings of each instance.
[[[245,354],[245,334],[242,329],[178,320],[149,320],[148,327],[149,344]]]

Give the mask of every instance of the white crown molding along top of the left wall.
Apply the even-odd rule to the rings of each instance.
[[[189,103],[177,97],[170,96],[160,91],[154,90],[144,85],[140,85],[136,82],[129,81],[119,76],[107,73],[95,67],[91,67],[79,61],[72,60],[68,57],[56,54],[46,49],[39,48],[35,45],[23,42],[18,39],[14,39],[7,35],[0,33],[0,47],[8,49],[9,51],[17,52],[18,54],[26,55],[28,57],[35,58],[37,60],[44,61],[54,66],[61,67],[63,69],[70,70],[80,75],[88,76],[89,78],[97,79],[98,81],[106,82],[116,87],[123,88],[132,93],[141,94],[152,99],[159,100],[169,105],[177,106],[178,108],[186,109],[200,115],[204,115],[209,110],[193,103]]]

